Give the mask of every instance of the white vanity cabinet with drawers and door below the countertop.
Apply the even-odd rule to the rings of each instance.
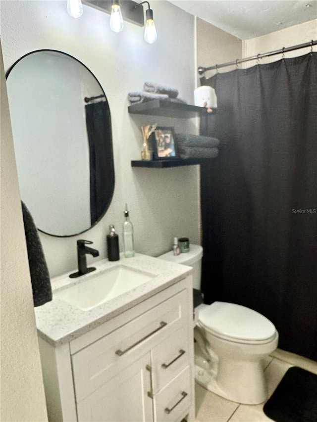
[[[53,346],[39,338],[50,421],[194,421],[191,276]]]

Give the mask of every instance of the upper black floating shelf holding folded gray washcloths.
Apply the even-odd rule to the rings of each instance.
[[[216,113],[216,108],[212,109],[212,114]],[[175,117],[178,119],[190,119],[192,117],[208,114],[207,108],[198,107],[180,102],[164,101],[155,99],[153,101],[140,102],[129,105],[128,111],[131,114],[146,114],[151,116]]]

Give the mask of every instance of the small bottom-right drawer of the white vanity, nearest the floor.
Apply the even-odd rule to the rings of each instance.
[[[179,422],[188,413],[192,400],[190,374],[187,367],[154,396],[157,422]]]

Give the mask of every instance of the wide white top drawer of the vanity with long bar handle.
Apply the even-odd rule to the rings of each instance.
[[[72,355],[76,401],[94,392],[186,322],[186,290]]]

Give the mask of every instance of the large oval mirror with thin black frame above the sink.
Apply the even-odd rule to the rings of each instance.
[[[54,236],[87,231],[114,189],[104,90],[74,57],[37,50],[11,67],[7,91],[21,199],[36,226]]]

